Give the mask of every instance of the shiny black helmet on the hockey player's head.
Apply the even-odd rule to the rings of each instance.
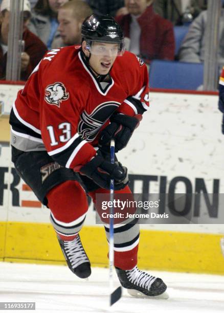
[[[119,52],[125,50],[124,36],[120,25],[109,15],[92,14],[85,18],[81,29],[82,40],[119,43]]]

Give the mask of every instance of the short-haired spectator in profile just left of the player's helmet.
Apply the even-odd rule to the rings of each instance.
[[[81,44],[81,26],[85,17],[93,13],[83,0],[72,0],[58,10],[58,31],[60,37],[52,43],[52,49],[72,44]]]

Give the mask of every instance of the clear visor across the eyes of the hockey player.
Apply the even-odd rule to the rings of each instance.
[[[101,56],[122,56],[125,51],[124,42],[120,43],[110,43],[110,42],[98,42],[87,40],[86,48],[91,54],[101,55]]]

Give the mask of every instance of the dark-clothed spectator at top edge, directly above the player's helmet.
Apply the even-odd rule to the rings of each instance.
[[[124,0],[84,0],[94,13],[115,16],[118,9],[124,7]]]

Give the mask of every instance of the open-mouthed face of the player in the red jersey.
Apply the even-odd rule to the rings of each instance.
[[[85,41],[83,41],[85,44]],[[83,50],[86,56],[89,56],[88,50]],[[100,75],[109,73],[116,57],[118,56],[118,43],[93,42],[91,46],[91,57],[89,58],[89,65]]]

